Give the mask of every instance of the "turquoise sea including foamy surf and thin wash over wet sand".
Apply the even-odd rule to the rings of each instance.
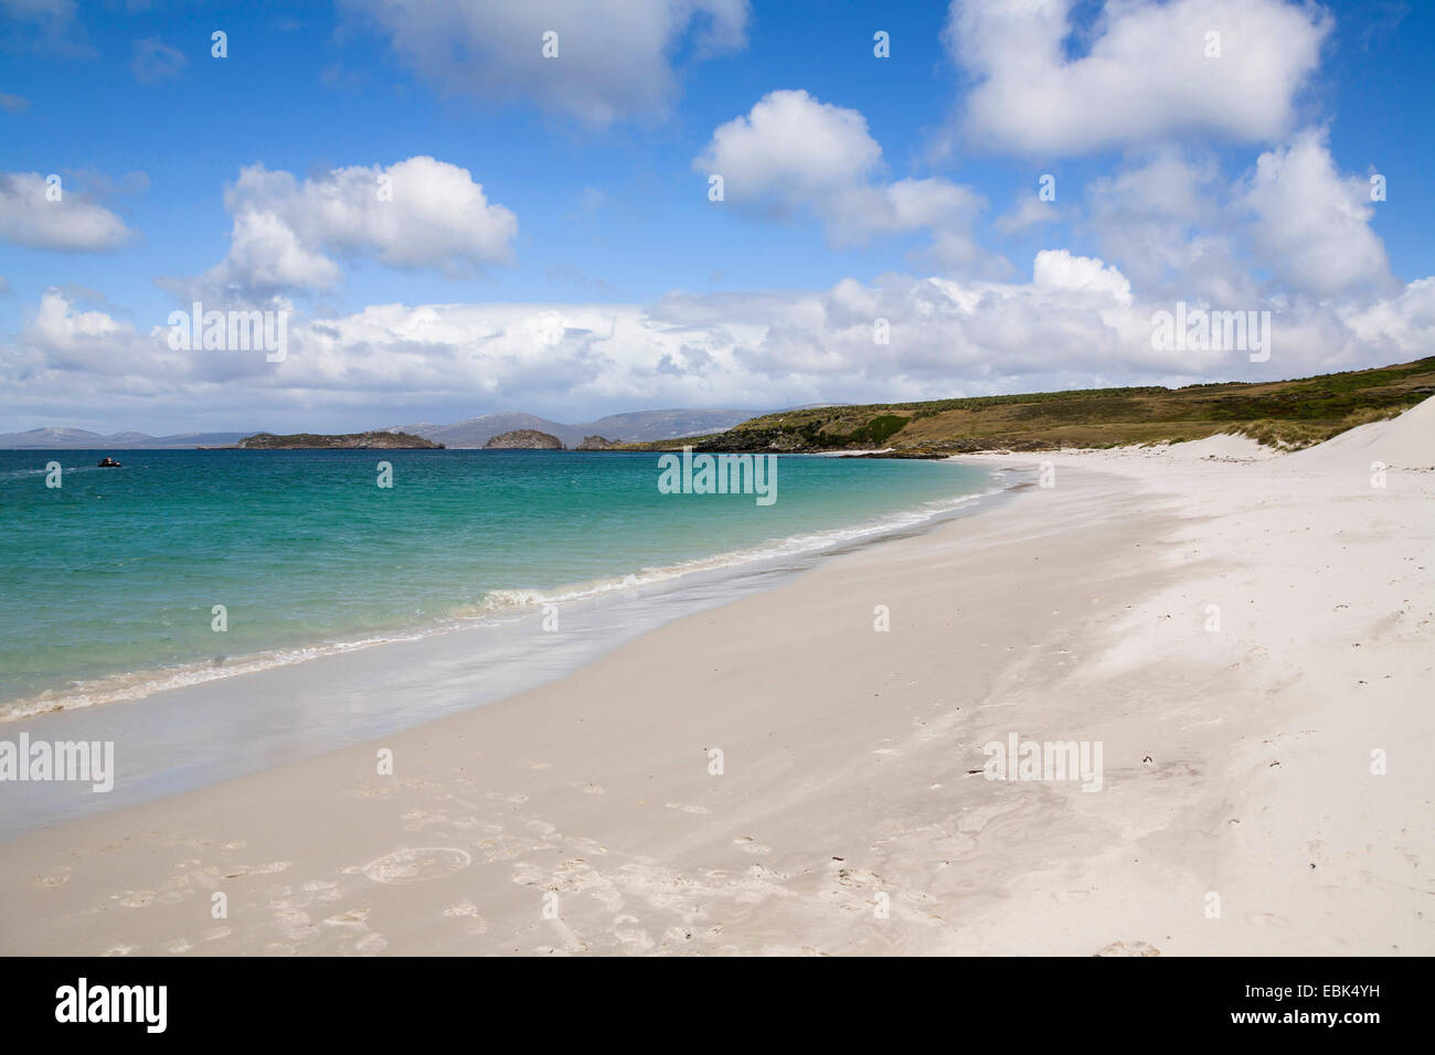
[[[177,461],[189,468],[195,464],[175,459],[189,452],[129,452],[129,461],[141,464],[152,454],[161,455],[148,469],[156,475],[133,484],[141,495],[155,489],[161,469],[181,471]],[[274,456],[232,454],[244,459]],[[44,583],[29,594],[40,600],[39,606],[19,603],[14,593],[0,601],[6,613],[0,636],[7,655],[23,655],[27,642],[34,647],[44,633],[59,632],[75,634],[80,644],[86,633],[138,642],[132,652],[115,655],[145,659],[132,670],[100,672],[79,685],[11,703],[10,721],[0,722],[0,739],[16,741],[26,732],[32,741],[112,742],[116,781],[105,794],[92,792],[83,782],[6,784],[0,840],[373,739],[519,692],[672,619],[769,589],[827,555],[986,508],[1002,500],[999,488],[1004,482],[1000,474],[953,464],[792,456],[779,464],[779,501],[761,510],[751,495],[657,495],[651,455],[584,455],[577,456],[580,462],[565,464],[575,455],[293,454],[297,456],[288,465],[277,468],[300,481],[319,478],[307,502],[273,494],[243,498],[241,484],[221,500],[217,495],[224,488],[211,474],[192,488],[198,498],[136,497],[116,484],[118,489],[99,489],[88,500],[76,495],[76,505],[30,515],[32,527],[34,521],[63,522],[66,515],[88,520],[88,527],[70,524],[66,533],[82,538],[80,550],[89,557],[67,576],[69,586],[59,586],[17,566],[13,551],[6,555],[6,576]],[[402,461],[406,454],[419,454],[415,462],[456,458],[453,465],[428,466],[430,472],[422,474],[416,471],[422,466]],[[405,478],[423,484],[415,487],[406,505],[359,512],[354,505],[373,500],[350,494],[353,488],[343,475],[366,472],[380,459],[393,462],[395,489]],[[485,465],[486,459],[494,464]],[[243,475],[240,459],[208,466],[235,464]],[[271,469],[251,462],[248,471]],[[583,474],[593,477],[584,485],[558,485]],[[471,484],[474,478],[505,475],[521,479],[484,491],[484,510],[441,494],[445,484],[465,495],[476,492],[471,485],[453,484],[455,477]],[[67,475],[66,488],[72,481]],[[509,500],[511,505],[504,507],[494,497],[502,494],[528,500]],[[103,515],[92,517],[96,507],[85,501],[109,505]],[[138,517],[146,502],[164,510],[151,514],[164,527],[135,527],[132,533],[145,540],[144,545],[105,555],[102,540],[86,537],[86,531],[108,531],[100,525],[113,522],[116,510],[123,507],[125,515]],[[782,517],[758,518],[784,504]],[[347,510],[347,521],[336,518],[334,505]],[[408,505],[420,512],[405,512]],[[283,525],[274,520],[276,507],[287,510]],[[585,514],[577,507],[585,507]],[[220,508],[232,510],[232,518],[218,515]],[[428,518],[430,530],[416,533],[412,525],[396,524],[410,515]],[[464,525],[491,525],[505,517],[518,525],[511,528],[515,537],[495,538],[492,527],[485,534]],[[204,527],[185,533],[184,522]],[[439,524],[446,530],[439,531]],[[281,535],[287,547],[274,554],[245,543],[244,527],[251,540]],[[773,528],[786,534],[769,534]],[[156,573],[178,571],[179,581],[189,584],[184,589],[195,590],[191,566],[220,553],[214,538],[192,541],[191,535],[207,531],[220,531],[241,554],[208,571],[215,581],[228,584],[232,596],[247,599],[230,607],[231,629],[225,633],[210,629],[208,599],[177,604],[165,576]],[[402,553],[383,544],[385,533],[399,531],[408,540]],[[349,538],[353,551],[334,553],[334,544],[320,541],[326,535]],[[169,540],[172,548],[166,551],[161,540]],[[27,548],[32,560],[39,555],[33,537]],[[664,563],[651,560],[650,553]],[[52,568],[50,576],[56,574]],[[396,604],[390,596],[395,591],[410,600]],[[420,594],[430,599],[428,607],[410,610],[412,599]],[[330,599],[333,610],[319,604],[317,597]],[[278,599],[293,599],[306,619],[293,619]],[[552,603],[545,606],[545,599]],[[257,643],[254,652],[225,656],[222,663],[204,659],[195,649],[214,647],[215,639],[234,640],[235,607],[257,624],[244,639]],[[26,611],[37,617],[24,619]],[[156,613],[174,622],[181,611],[201,623],[202,633],[177,634],[171,629],[146,634],[159,624]],[[75,653],[47,655],[53,659]],[[32,663],[27,676],[34,677],[40,666]],[[44,673],[62,682],[75,677],[72,672]],[[60,709],[43,711],[46,706]]]

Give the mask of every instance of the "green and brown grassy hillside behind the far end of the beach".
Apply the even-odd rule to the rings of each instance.
[[[1238,432],[1309,446],[1435,395],[1435,356],[1370,370],[1276,382],[1223,382],[1032,392],[921,403],[822,406],[753,418],[726,432],[630,449],[855,451],[931,458],[970,451],[1045,451],[1204,439]]]

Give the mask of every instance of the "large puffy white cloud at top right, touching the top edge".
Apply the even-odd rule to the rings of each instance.
[[[1274,139],[1289,131],[1332,27],[1322,9],[1284,0],[1111,0],[1082,33],[1076,9],[953,0],[943,39],[976,80],[967,135],[1035,155],[1181,133]],[[1068,47],[1073,36],[1083,50]]]

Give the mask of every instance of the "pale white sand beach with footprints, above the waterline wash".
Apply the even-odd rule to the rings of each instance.
[[[0,952],[1435,952],[1435,400],[1293,455],[976,461],[1032,484],[550,685],[6,844]],[[1099,742],[1101,789],[986,779],[1012,733]]]

